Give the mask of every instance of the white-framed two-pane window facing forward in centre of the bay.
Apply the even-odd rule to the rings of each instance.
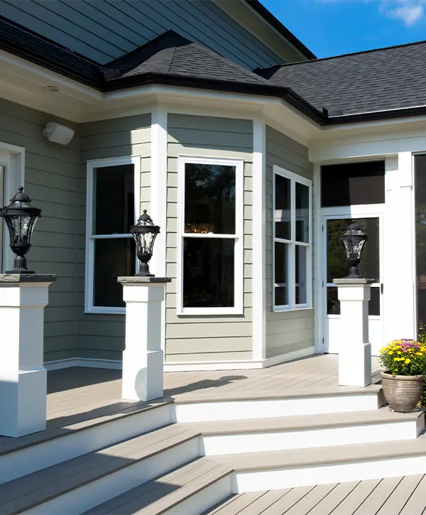
[[[180,157],[178,314],[243,313],[243,161]]]

